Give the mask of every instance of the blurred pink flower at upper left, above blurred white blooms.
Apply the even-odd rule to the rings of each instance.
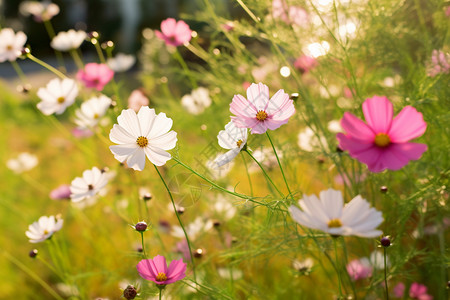
[[[97,91],[103,90],[113,77],[114,71],[106,64],[89,63],[77,73],[78,80],[83,81],[86,87],[93,87]]]

